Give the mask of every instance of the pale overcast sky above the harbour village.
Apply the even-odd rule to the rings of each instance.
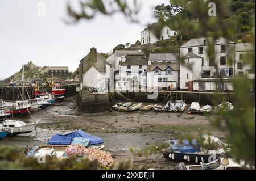
[[[69,66],[69,71],[75,71],[91,47],[110,52],[120,43],[135,43],[144,26],[155,21],[154,6],[168,3],[137,0],[142,5],[141,24],[130,23],[122,14],[116,14],[98,15],[69,25],[64,22],[70,20],[66,8],[69,1],[0,1],[0,79],[13,75],[28,61],[38,66]],[[45,16],[38,15],[42,12],[38,10],[40,2],[46,6]],[[73,0],[72,5],[76,7],[77,1]]]

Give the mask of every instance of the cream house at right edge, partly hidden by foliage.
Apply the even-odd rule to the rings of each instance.
[[[255,79],[255,72],[252,71],[253,65],[247,61],[254,53],[254,45],[251,43],[236,43],[235,45],[235,75],[248,75],[249,78]]]

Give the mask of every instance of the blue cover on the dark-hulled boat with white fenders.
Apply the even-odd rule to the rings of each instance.
[[[179,151],[181,153],[195,153],[200,152],[200,145],[197,144],[196,139],[193,139],[191,142],[188,140],[182,140],[182,144],[179,140],[172,140],[174,145],[172,146],[172,150]]]

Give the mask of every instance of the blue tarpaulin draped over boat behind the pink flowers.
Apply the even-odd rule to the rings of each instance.
[[[85,133],[81,129],[79,129],[77,131],[73,131],[67,134],[57,133],[51,137],[51,139],[47,142],[47,144],[48,145],[70,145],[75,137],[88,138],[90,139],[91,145],[103,143],[103,140],[100,137],[92,136],[88,133]]]

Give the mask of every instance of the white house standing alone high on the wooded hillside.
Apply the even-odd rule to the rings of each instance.
[[[147,43],[153,44],[156,41],[170,39],[171,36],[176,36],[176,35],[177,35],[176,31],[171,30],[169,27],[165,26],[161,31],[160,39],[158,39],[149,28],[145,28],[141,32],[141,44],[142,45]]]

